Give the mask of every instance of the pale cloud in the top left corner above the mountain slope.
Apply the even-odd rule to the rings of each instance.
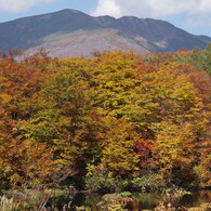
[[[0,12],[19,13],[29,10],[39,3],[49,3],[55,0],[0,0]]]

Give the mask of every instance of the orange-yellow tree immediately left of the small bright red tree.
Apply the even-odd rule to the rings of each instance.
[[[110,119],[105,135],[102,164],[107,169],[109,176],[135,175],[139,171],[140,155],[135,145],[141,142],[131,122],[126,119]]]

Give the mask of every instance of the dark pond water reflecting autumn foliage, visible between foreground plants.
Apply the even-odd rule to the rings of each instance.
[[[160,193],[133,193],[132,198],[134,200],[133,207],[130,209],[131,211],[140,211],[144,209],[153,210],[156,206],[158,206],[161,201]],[[53,198],[49,201],[50,203],[56,203],[58,209],[62,209],[64,205],[68,202],[71,203],[71,211],[75,211],[78,207],[78,210],[85,211],[98,211],[97,203],[101,201],[102,195],[97,193],[92,194],[83,194],[78,193],[74,196],[61,196]],[[184,206],[186,208],[197,207],[202,203],[208,203],[211,201],[211,190],[198,190],[193,192],[190,195],[185,195],[181,201],[180,206]],[[83,209],[82,209],[83,208]]]

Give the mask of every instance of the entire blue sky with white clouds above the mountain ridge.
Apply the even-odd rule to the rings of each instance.
[[[63,9],[92,16],[163,19],[190,34],[211,37],[211,0],[0,0],[0,23]]]

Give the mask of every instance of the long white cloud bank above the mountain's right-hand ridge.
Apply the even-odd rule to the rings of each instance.
[[[98,0],[93,15],[164,17],[211,13],[211,0]]]

